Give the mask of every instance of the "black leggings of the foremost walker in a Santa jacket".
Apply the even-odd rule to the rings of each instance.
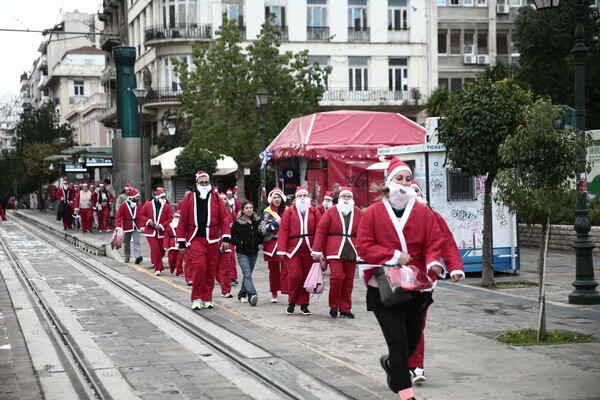
[[[412,387],[408,358],[419,343],[425,311],[431,304],[431,293],[413,293],[402,307],[375,310],[375,317],[388,345],[392,387],[398,391]]]

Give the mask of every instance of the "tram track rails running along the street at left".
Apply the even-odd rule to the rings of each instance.
[[[327,398],[348,398],[338,389],[331,387],[327,383],[319,380],[318,377],[312,375],[309,375],[304,379],[304,381],[310,381],[308,384],[304,385],[304,387],[290,382],[285,376],[280,374],[279,371],[269,367],[269,365],[272,364],[271,362],[267,362],[266,364],[260,362],[269,359],[277,359],[277,356],[259,348],[257,351],[255,351],[253,357],[248,357],[248,351],[240,350],[240,343],[237,345],[231,345],[231,343],[226,340],[227,337],[210,332],[209,330],[204,329],[203,326],[199,326],[199,324],[191,322],[189,318],[182,316],[180,312],[173,311],[162,305],[161,303],[163,302],[156,301],[156,297],[154,295],[164,297],[170,302],[174,303],[177,303],[177,300],[170,299],[169,297],[165,296],[165,294],[158,293],[155,289],[148,286],[144,286],[143,290],[137,289],[130,283],[127,283],[126,279],[122,279],[121,273],[115,272],[112,269],[110,270],[111,272],[107,272],[106,269],[108,267],[104,266],[104,268],[101,268],[98,265],[99,263],[88,261],[88,259],[79,254],[80,251],[74,253],[73,247],[65,243],[56,243],[56,239],[49,239],[47,236],[48,234],[41,233],[38,230],[35,230],[35,228],[32,229],[27,223],[19,222],[18,225],[34,234],[37,238],[43,240],[48,245],[54,247],[65,259],[68,259],[72,263],[90,271],[94,274],[94,276],[101,278],[113,288],[117,288],[125,296],[135,299],[137,302],[143,304],[144,307],[148,308],[160,318],[163,318],[165,321],[168,321],[168,323],[177,326],[183,332],[202,343],[203,346],[206,346],[215,354],[218,354],[224,359],[228,360],[230,363],[239,368],[239,370],[243,371],[244,374],[247,374],[258,381],[260,385],[269,388],[271,392],[275,393],[274,398],[319,399],[325,398],[323,396],[327,396]],[[52,307],[44,304],[45,301],[43,295],[36,291],[35,285],[31,283],[31,279],[27,276],[27,271],[20,265],[18,254],[16,254],[10,248],[8,242],[4,238],[2,238],[2,246],[6,250],[7,254],[10,254],[11,261],[20,271],[21,281],[28,282],[28,286],[32,291],[32,296],[35,296],[37,303],[40,304],[40,307],[44,310],[45,315],[48,316],[47,318],[55,328],[55,336],[57,337],[56,340],[60,339],[60,341],[63,343],[65,347],[63,349],[64,353],[70,354],[70,360],[72,360],[71,362],[73,363],[72,369],[79,371],[79,386],[90,388],[88,398],[113,398],[110,392],[107,391],[105,386],[102,384],[102,380],[96,375],[94,369],[90,367],[86,360],[85,354],[79,348],[77,342],[72,340],[72,336],[69,334],[68,329],[61,324],[60,319],[57,318]],[[192,313],[192,311],[189,309],[188,312]],[[239,338],[239,340],[242,340],[242,338]],[[253,344],[242,344],[242,346],[249,348],[252,346],[256,347]],[[260,354],[261,351],[264,353]],[[279,363],[287,363],[280,359],[277,361]],[[83,382],[85,382],[85,385]],[[318,384],[317,386],[321,386],[320,391],[314,391],[315,382]]]

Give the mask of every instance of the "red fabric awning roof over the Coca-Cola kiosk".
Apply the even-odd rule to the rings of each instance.
[[[331,111],[292,119],[267,147],[273,159],[375,158],[381,147],[424,143],[425,128],[394,113]]]

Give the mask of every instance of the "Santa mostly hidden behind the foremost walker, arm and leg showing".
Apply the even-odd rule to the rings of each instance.
[[[417,195],[417,201],[423,204],[427,204],[427,200],[423,198],[421,185],[419,185],[417,181],[413,181],[411,187],[414,189]],[[444,217],[442,217],[440,213],[436,211],[433,211],[433,213],[435,214],[436,220],[444,235],[444,245],[442,247],[442,261],[446,266],[446,270],[450,273],[452,282],[456,283],[461,278],[465,277],[465,268],[463,265],[462,257],[460,255],[460,251],[458,251],[458,246],[456,246],[456,241],[454,240],[452,231],[450,231],[450,228],[448,228],[448,224],[446,224]],[[423,383],[427,379],[425,377],[424,369],[426,321],[427,311],[425,312],[425,316],[423,317],[423,328],[421,330],[421,338],[419,339],[419,344],[417,344],[417,348],[415,349],[414,353],[408,358],[408,368],[410,369],[413,383]]]

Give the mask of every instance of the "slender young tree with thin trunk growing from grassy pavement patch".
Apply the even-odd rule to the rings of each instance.
[[[496,200],[524,221],[543,221],[538,271],[540,314],[538,340],[546,340],[545,260],[553,218],[564,208],[573,209],[578,190],[573,187],[577,155],[590,143],[576,131],[556,130],[560,107],[540,99],[524,111],[524,123],[500,146],[501,160],[511,168],[496,178]]]

